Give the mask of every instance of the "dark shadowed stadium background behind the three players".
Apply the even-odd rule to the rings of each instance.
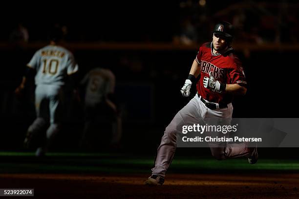
[[[35,118],[34,87],[27,88],[21,99],[14,90],[26,63],[47,44],[48,32],[57,24],[67,30],[64,46],[74,53],[81,77],[96,66],[115,74],[124,126],[122,152],[154,153],[164,128],[191,99],[183,98],[180,88],[199,46],[211,41],[219,20],[236,27],[233,47],[249,82],[246,96],[234,101],[233,117],[298,117],[299,4],[295,1],[207,0],[202,6],[197,0],[51,3],[2,7],[1,150],[24,150],[26,129]],[[27,29],[28,40],[14,36],[18,24]],[[193,88],[192,96],[195,92]],[[82,104],[72,101],[70,106],[53,151],[80,151]],[[99,151],[107,150],[102,142],[99,139]],[[288,151],[294,156],[296,150],[278,154]]]

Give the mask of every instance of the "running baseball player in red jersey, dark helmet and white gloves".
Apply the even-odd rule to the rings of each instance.
[[[173,159],[179,126],[182,123],[200,123],[207,119],[231,121],[233,115],[232,100],[235,95],[245,95],[247,82],[240,60],[231,47],[233,40],[232,24],[226,21],[217,23],[213,31],[212,42],[204,43],[198,51],[192,67],[181,89],[183,96],[190,95],[192,83],[200,75],[196,84],[197,94],[182,108],[166,127],[157,150],[155,167],[145,181],[147,185],[162,185],[167,169]],[[247,157],[250,164],[257,161],[256,148],[246,143],[210,145],[212,155],[219,160]]]

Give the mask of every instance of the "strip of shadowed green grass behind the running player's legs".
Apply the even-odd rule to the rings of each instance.
[[[0,173],[149,173],[153,157],[109,153],[48,153],[37,159],[32,152],[0,152]],[[175,157],[170,172],[298,172],[299,160]]]

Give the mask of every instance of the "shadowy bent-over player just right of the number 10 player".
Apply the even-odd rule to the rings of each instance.
[[[81,84],[86,85],[85,126],[81,146],[84,147],[85,144],[91,144],[92,136],[90,131],[92,123],[99,115],[104,116],[105,119],[109,120],[108,122],[112,123],[110,145],[113,147],[118,146],[122,135],[122,121],[114,99],[114,74],[109,69],[97,67],[85,75]]]

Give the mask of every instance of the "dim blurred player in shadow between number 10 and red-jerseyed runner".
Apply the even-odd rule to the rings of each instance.
[[[109,69],[96,67],[85,75],[81,84],[85,85],[85,125],[80,140],[81,148],[94,149],[99,143],[109,143],[112,148],[119,147],[122,119],[114,95],[114,74]],[[100,124],[99,128],[95,128],[96,123]],[[107,124],[110,128],[105,128]],[[107,134],[107,131],[111,131],[112,135]],[[107,142],[107,139],[110,141]]]

